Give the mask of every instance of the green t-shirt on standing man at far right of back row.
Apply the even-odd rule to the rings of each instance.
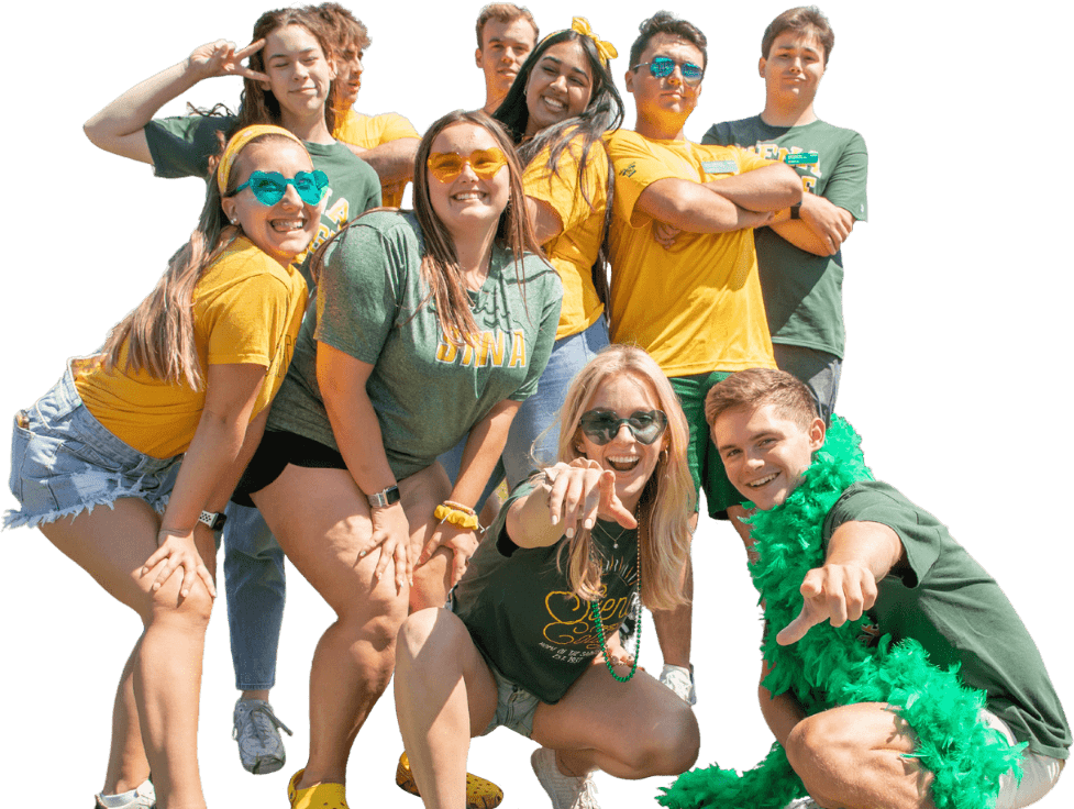
[[[769,126],[760,115],[712,124],[701,143],[741,146],[783,160],[801,176],[807,193],[868,219],[868,151],[854,130],[813,121],[802,126]],[[771,228],[754,232],[757,268],[773,343],[816,348],[842,358],[843,253],[815,256]]]

